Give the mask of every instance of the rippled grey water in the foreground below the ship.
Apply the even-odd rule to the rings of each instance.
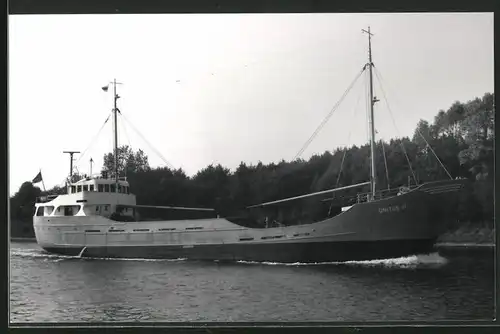
[[[493,252],[329,264],[98,260],[12,243],[11,322],[491,320]]]

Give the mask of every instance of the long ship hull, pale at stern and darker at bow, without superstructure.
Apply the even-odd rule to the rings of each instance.
[[[124,223],[99,216],[35,217],[34,227],[42,248],[70,256],[281,263],[373,260],[434,251],[441,225],[435,211],[442,204],[432,194],[415,190],[356,204],[317,223],[278,228],[245,228],[223,218]]]

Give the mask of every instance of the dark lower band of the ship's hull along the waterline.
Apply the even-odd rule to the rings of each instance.
[[[88,247],[82,257],[318,263],[397,258],[433,251],[434,239],[262,243],[183,246]],[[51,247],[48,252],[78,256],[82,248]]]

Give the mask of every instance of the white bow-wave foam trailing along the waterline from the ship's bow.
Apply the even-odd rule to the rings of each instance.
[[[340,265],[354,267],[384,267],[384,268],[421,268],[421,267],[440,267],[448,263],[448,260],[439,253],[412,255],[393,259],[366,260],[366,261],[341,261],[341,262],[316,262],[316,263],[280,263],[280,262],[256,262],[256,261],[237,261],[242,264],[259,264],[271,266],[325,266]]]

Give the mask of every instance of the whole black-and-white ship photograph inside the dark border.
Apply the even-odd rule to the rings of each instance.
[[[9,321],[495,318],[493,13],[8,17]]]

